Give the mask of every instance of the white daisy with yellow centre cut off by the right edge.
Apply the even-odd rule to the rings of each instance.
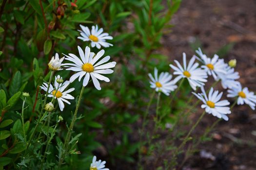
[[[237,87],[233,87],[228,90],[229,98],[238,97],[237,104],[242,105],[244,103],[248,104],[253,110],[256,106],[256,95],[254,92],[248,90],[247,87],[242,88],[242,85],[239,84]]]

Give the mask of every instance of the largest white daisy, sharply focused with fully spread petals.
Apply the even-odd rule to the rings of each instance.
[[[101,75],[101,74],[111,74],[114,71],[109,68],[114,68],[116,66],[116,62],[110,62],[109,61],[110,56],[106,56],[100,61],[99,58],[103,56],[104,50],[99,51],[96,56],[94,56],[93,52],[90,52],[90,48],[86,47],[85,51],[78,46],[78,51],[80,58],[77,57],[75,54],[69,53],[69,55],[66,56],[66,60],[69,60],[73,63],[65,63],[65,67],[67,67],[67,70],[76,71],[74,75],[70,77],[70,82],[74,82],[75,79],[79,77],[79,82],[84,76],[83,79],[83,86],[86,86],[89,82],[90,77],[92,77],[94,86],[100,90],[100,85],[98,80],[103,80],[105,82],[109,82],[109,78]],[[103,64],[106,63],[106,64]]]

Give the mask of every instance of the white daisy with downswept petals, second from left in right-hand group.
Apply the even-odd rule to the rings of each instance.
[[[207,82],[207,73],[203,69],[198,68],[199,64],[194,63],[195,60],[196,56],[193,56],[187,66],[186,54],[183,52],[183,68],[177,60],[174,60],[174,62],[177,64],[177,67],[170,64],[170,67],[175,70],[173,74],[178,75],[174,79],[175,83],[181,78],[187,78],[190,86],[196,90],[197,86],[200,87],[204,85],[205,82]]]

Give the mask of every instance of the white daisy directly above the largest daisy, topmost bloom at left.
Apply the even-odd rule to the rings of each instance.
[[[103,28],[98,29],[98,25],[92,26],[92,30],[90,31],[88,27],[80,25],[82,30],[78,30],[80,35],[78,39],[83,41],[91,41],[92,47],[97,47],[100,49],[101,46],[109,47],[113,46],[113,44],[107,43],[107,39],[113,39],[108,33],[102,33]]]

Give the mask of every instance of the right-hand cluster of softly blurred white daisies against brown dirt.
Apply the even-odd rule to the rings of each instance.
[[[157,92],[163,92],[165,95],[177,90],[177,82],[181,79],[187,79],[189,85],[194,91],[200,87],[202,93],[192,92],[200,101],[203,102],[201,108],[205,109],[206,113],[212,114],[217,118],[228,120],[227,114],[230,114],[230,107],[227,100],[220,101],[223,92],[218,92],[211,87],[208,95],[204,90],[204,85],[207,82],[208,76],[213,76],[216,82],[220,81],[224,89],[228,88],[227,97],[237,98],[237,104],[248,104],[253,110],[256,106],[256,95],[250,92],[247,87],[242,88],[242,85],[237,81],[240,77],[235,71],[236,60],[231,60],[229,64],[220,59],[217,54],[213,58],[203,54],[200,48],[196,51],[199,57],[194,55],[187,64],[186,54],[183,53],[183,66],[174,60],[177,66],[170,64],[174,70],[173,74],[177,75],[174,80],[168,72],[160,73],[158,77],[158,69],[155,68],[154,77],[149,73],[150,87],[155,88]],[[198,60],[199,63],[196,62]]]

